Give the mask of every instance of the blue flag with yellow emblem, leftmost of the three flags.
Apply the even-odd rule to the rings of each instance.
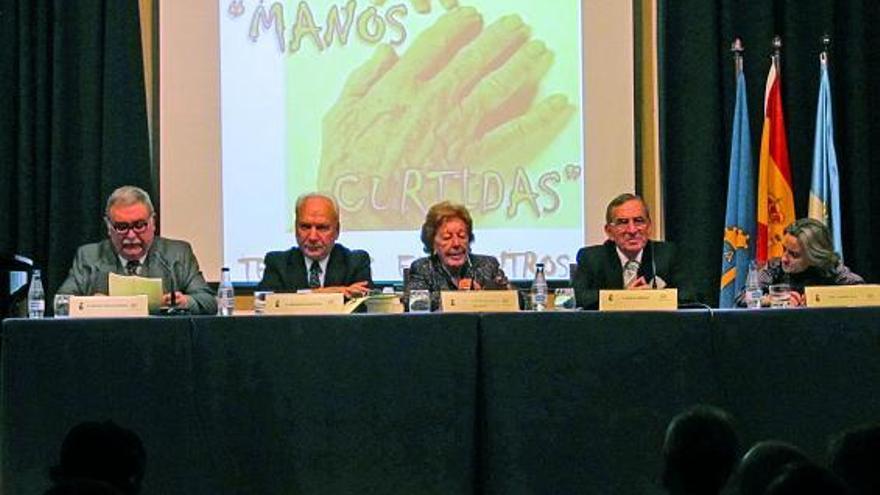
[[[727,182],[727,214],[721,255],[720,308],[732,308],[746,284],[755,244],[755,172],[752,168],[746,79],[742,68],[736,75],[733,137],[730,140],[730,176]]]

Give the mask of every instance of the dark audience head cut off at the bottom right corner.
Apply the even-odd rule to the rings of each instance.
[[[829,465],[854,495],[880,493],[880,425],[864,425],[831,442]]]

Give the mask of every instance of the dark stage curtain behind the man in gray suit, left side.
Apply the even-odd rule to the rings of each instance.
[[[0,0],[0,252],[54,292],[123,184],[151,190],[138,2]]]

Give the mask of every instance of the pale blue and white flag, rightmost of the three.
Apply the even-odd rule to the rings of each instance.
[[[823,222],[831,232],[834,250],[843,256],[840,235],[840,181],[834,150],[834,120],[831,115],[831,83],[825,54],[819,62],[819,102],[816,106],[816,138],[813,142],[813,180],[810,184],[809,216]]]

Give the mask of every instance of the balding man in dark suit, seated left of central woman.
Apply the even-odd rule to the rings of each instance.
[[[346,297],[366,294],[373,283],[370,256],[338,244],[339,209],[323,194],[296,200],[296,247],[266,254],[263,279],[257,290],[341,292]]]

